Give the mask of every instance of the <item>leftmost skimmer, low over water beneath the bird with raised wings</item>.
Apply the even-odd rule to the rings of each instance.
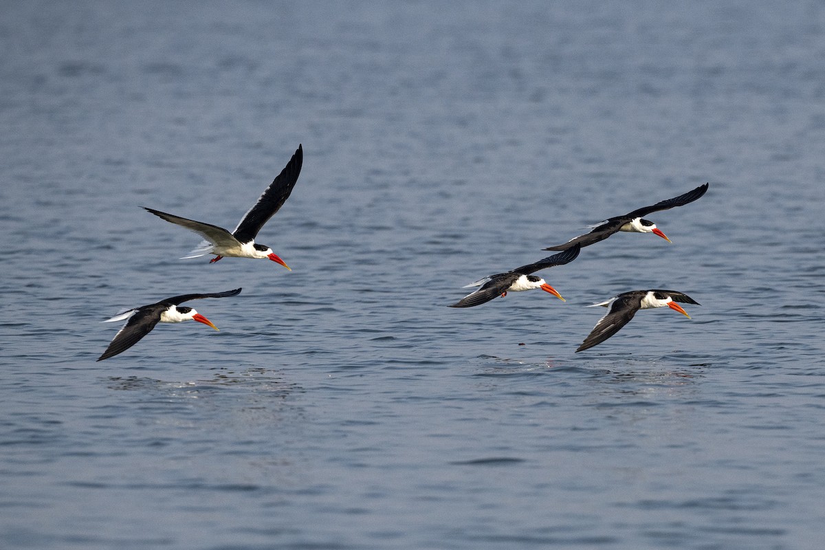
[[[138,343],[138,341],[146,336],[158,322],[184,322],[192,321],[202,322],[218,330],[212,322],[197,313],[193,308],[179,307],[179,304],[188,302],[189,300],[198,300],[203,298],[227,298],[228,296],[235,296],[241,294],[241,289],[227,290],[226,292],[217,292],[213,294],[183,294],[182,296],[172,296],[161,300],[158,303],[150,303],[148,306],[141,306],[139,308],[130,309],[127,312],[120,313],[106,319],[104,322],[123,321],[127,317],[129,321],[115,334],[115,338],[103,352],[103,355],[97,358],[98,361],[109,359],[113,355],[117,355]]]

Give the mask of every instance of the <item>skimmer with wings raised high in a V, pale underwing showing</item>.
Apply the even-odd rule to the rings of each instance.
[[[167,222],[177,223],[177,225],[191,229],[191,231],[204,237],[205,240],[201,242],[195,250],[191,251],[188,256],[183,256],[181,259],[214,254],[215,257],[210,260],[211,264],[219,261],[224,256],[257,259],[269,258],[271,261],[275,261],[291,271],[290,266],[287,266],[270,247],[255,242],[255,237],[263,227],[263,224],[269,221],[278,209],[281,209],[285,200],[289,198],[292,188],[295,187],[295,182],[298,181],[303,163],[304,149],[299,145],[298,150],[292,155],[290,162],[287,163],[286,167],[284,167],[281,173],[272,181],[270,186],[266,188],[263,195],[257,200],[257,203],[243,216],[243,219],[238,223],[238,227],[234,228],[232,233],[211,223],[196,222],[151,208],[144,207],[144,209],[159,218],[165,219]]]

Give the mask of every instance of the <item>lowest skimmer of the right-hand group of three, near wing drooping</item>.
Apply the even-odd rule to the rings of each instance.
[[[587,350],[593,346],[601,344],[610,336],[620,331],[630,319],[639,311],[639,309],[650,308],[664,308],[667,306],[674,311],[677,311],[687,317],[690,315],[677,303],[695,303],[700,305],[695,299],[692,299],[687,294],[676,292],[674,290],[631,290],[622,294],[617,294],[613,298],[600,303],[594,303],[588,308],[595,308],[601,306],[603,308],[610,307],[610,311],[604,317],[599,319],[596,327],[584,339],[581,346],[578,346],[576,351]]]

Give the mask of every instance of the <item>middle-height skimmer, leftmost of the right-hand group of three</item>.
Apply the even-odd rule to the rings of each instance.
[[[497,296],[507,296],[508,292],[532,289],[542,289],[564,302],[565,300],[562,298],[562,295],[552,286],[545,283],[544,279],[530,274],[538,270],[547,269],[548,267],[562,266],[563,264],[570,263],[576,259],[579,250],[580,247],[575,246],[569,250],[559,252],[559,254],[543,258],[533,264],[516,267],[516,269],[507,271],[507,273],[497,273],[496,275],[490,275],[484,277],[482,280],[467,284],[463,287],[464,289],[473,286],[481,286],[481,288],[472,294],[467,294],[458,302],[451,304],[450,308],[472,308],[481,303],[489,302]]]

